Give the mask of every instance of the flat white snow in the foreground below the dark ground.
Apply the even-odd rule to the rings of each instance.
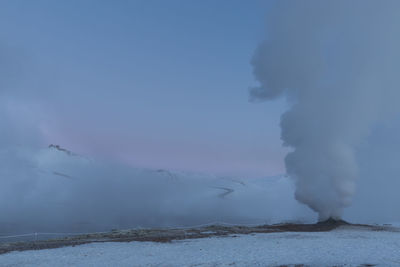
[[[172,243],[92,243],[0,255],[0,266],[400,266],[400,232],[253,234]]]

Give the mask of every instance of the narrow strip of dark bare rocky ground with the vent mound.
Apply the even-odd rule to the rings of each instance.
[[[0,244],[0,254],[11,251],[38,250],[76,246],[95,242],[171,242],[173,240],[205,238],[214,236],[234,236],[252,233],[279,233],[279,232],[327,232],[338,227],[357,227],[371,231],[388,231],[390,227],[350,224],[342,220],[329,219],[316,224],[285,223],[261,226],[222,226],[211,225],[200,228],[185,229],[135,229],[115,230],[109,233],[93,233],[73,237],[64,237],[50,240],[24,241]]]

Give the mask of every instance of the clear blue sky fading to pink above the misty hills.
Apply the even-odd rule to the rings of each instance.
[[[37,122],[43,146],[139,167],[282,173],[285,103],[248,101],[270,5],[1,1],[3,97]]]

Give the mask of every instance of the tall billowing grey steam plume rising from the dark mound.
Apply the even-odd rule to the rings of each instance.
[[[252,100],[285,95],[281,138],[295,197],[340,218],[355,193],[356,152],[398,109],[399,1],[277,1],[252,60]]]

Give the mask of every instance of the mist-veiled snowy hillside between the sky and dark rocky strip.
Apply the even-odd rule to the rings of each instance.
[[[292,181],[283,175],[246,179],[140,169],[56,146],[20,160],[19,172],[10,169],[0,181],[3,236],[315,219],[295,201]]]

